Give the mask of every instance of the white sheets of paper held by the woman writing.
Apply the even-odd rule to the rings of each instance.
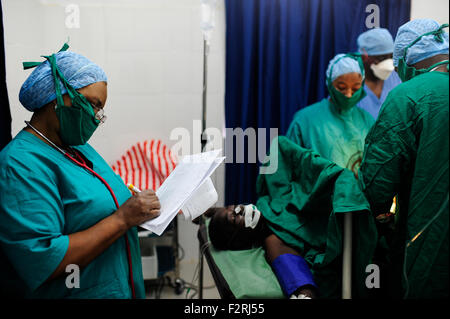
[[[215,150],[183,157],[156,191],[161,214],[140,226],[159,236],[180,210],[186,219],[194,219],[214,205],[217,192],[210,176],[225,159],[220,153]]]

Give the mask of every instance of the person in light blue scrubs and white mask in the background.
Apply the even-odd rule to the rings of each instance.
[[[364,63],[367,93],[358,106],[376,119],[388,93],[401,83],[392,61],[394,40],[387,29],[375,28],[361,33],[357,44]]]

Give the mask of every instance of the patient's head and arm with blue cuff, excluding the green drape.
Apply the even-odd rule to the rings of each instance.
[[[209,236],[216,249],[242,250],[262,245],[287,297],[316,297],[317,287],[306,262],[267,227],[254,205],[211,208],[205,215],[211,217]]]

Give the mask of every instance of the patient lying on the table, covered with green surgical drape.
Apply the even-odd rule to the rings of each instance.
[[[260,174],[255,205],[212,208],[209,236],[216,249],[265,248],[287,297],[308,289],[310,297],[336,299],[342,293],[343,218],[352,213],[354,298],[367,298],[365,269],[373,262],[377,230],[370,205],[354,174],[284,136],[272,142]]]

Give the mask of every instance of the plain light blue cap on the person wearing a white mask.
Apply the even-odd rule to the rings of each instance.
[[[394,39],[387,29],[375,28],[361,33],[356,40],[360,53],[367,55],[389,54],[394,51]]]

